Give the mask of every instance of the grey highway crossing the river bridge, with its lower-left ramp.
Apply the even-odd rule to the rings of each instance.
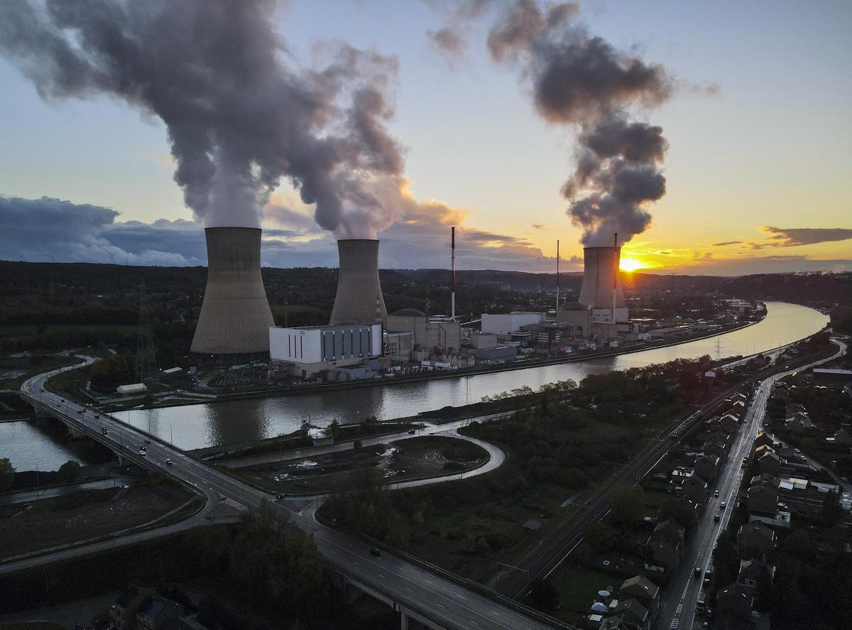
[[[91,362],[90,359],[87,359],[87,363],[89,362]],[[129,459],[143,462],[149,468],[167,472],[198,488],[208,497],[208,506],[205,511],[210,510],[211,506],[216,506],[218,497],[227,497],[246,508],[256,508],[262,501],[272,500],[272,495],[240,483],[233,477],[216,471],[157,439],[151,439],[147,444],[147,454],[141,455],[140,448],[146,441],[143,433],[124,425],[112,416],[96,413],[74,402],[63,401],[60,396],[45,390],[44,384],[47,379],[58,372],[57,370],[44,373],[28,379],[21,386],[22,395],[37,406],[64,417],[72,425],[83,428],[95,439],[108,442],[112,448],[118,449]],[[101,433],[103,428],[107,430],[106,435]],[[171,460],[171,465],[167,463],[167,459]],[[538,621],[538,618],[528,616],[515,605],[504,603],[498,598],[486,597],[463,587],[457,581],[437,575],[394,554],[384,553],[381,558],[373,558],[364,541],[337,529],[323,527],[315,521],[311,510],[294,515],[283,506],[275,503],[271,505],[273,509],[278,509],[280,513],[285,514],[291,523],[313,535],[320,552],[330,564],[335,565],[344,574],[354,577],[377,592],[388,595],[407,609],[417,611],[442,627],[535,630],[556,625]],[[147,540],[170,531],[186,529],[186,527],[184,523],[176,523],[175,526],[136,533],[122,537],[120,540],[105,540],[101,543],[74,547],[47,555],[21,558],[11,563],[0,564],[0,574],[83,555],[116,544]]]

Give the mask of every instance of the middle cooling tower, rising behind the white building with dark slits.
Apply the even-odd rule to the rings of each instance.
[[[378,240],[338,240],[337,251],[340,275],[329,323],[383,323],[388,310],[378,280]]]

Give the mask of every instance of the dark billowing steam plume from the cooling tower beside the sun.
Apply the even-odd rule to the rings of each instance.
[[[496,61],[519,66],[533,88],[538,113],[579,130],[577,165],[562,187],[584,245],[626,242],[651,223],[645,209],[665,194],[659,171],[668,143],[662,129],[630,122],[631,106],[655,107],[671,97],[673,81],[658,65],[626,55],[573,22],[575,3],[541,9],[517,0],[492,27]]]

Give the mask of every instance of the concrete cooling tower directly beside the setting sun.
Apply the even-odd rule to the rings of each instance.
[[[618,273],[620,247],[585,247],[579,303],[592,307],[596,321],[627,321],[625,294]],[[614,299],[613,299],[614,298]]]

